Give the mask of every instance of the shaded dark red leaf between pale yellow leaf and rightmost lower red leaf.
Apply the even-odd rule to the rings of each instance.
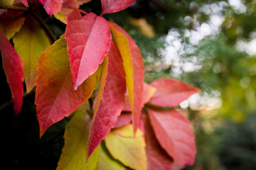
[[[166,151],[159,145],[156,140],[153,129],[149,123],[149,115],[142,114],[145,127],[146,137],[146,157],[148,170],[171,170],[173,166],[173,159],[166,153]]]

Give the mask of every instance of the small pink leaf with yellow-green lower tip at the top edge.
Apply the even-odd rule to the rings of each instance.
[[[53,14],[55,18],[61,22],[67,24],[68,15],[74,11],[75,8],[79,8],[78,1],[76,0],[63,0],[63,6],[60,9],[60,12]]]

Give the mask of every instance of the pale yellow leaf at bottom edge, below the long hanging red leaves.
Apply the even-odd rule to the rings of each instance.
[[[145,141],[141,130],[133,137],[132,125],[112,130],[105,138],[107,149],[114,159],[132,169],[146,170]]]

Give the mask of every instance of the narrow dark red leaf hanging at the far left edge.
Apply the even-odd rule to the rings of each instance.
[[[11,89],[11,96],[14,98],[14,113],[21,111],[23,102],[23,70],[21,57],[14,50],[9,40],[0,27],[0,51],[3,60],[4,72]]]

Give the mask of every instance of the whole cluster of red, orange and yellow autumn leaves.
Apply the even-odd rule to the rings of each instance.
[[[14,112],[21,111],[23,77],[27,92],[36,85],[41,136],[75,112],[66,126],[58,169],[181,169],[193,164],[194,135],[174,107],[199,90],[175,79],[144,83],[139,47],[102,17],[134,1],[102,0],[100,16],[85,11],[82,16],[78,7],[85,0],[33,0],[67,23],[65,35],[53,45],[33,16],[0,10],[0,50]],[[13,5],[32,5],[20,2]],[[84,105],[96,89],[93,108]]]

